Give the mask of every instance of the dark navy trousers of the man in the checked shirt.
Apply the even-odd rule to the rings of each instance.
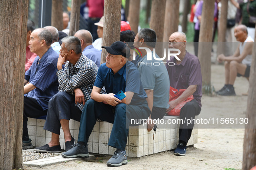
[[[80,121],[82,111],[75,106],[75,96],[64,91],[55,94],[48,104],[44,129],[60,134],[61,119]]]

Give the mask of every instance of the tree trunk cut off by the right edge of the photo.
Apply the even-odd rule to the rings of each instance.
[[[256,29],[255,29],[256,30]],[[256,33],[256,31],[255,31]],[[249,91],[247,99],[246,118],[248,124],[245,126],[243,139],[243,170],[250,170],[256,165],[256,34],[253,43],[253,59],[250,69]]]

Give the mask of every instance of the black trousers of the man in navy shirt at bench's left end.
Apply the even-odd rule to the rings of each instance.
[[[47,114],[47,109],[43,110],[40,104],[34,98],[24,96],[23,105],[23,134],[22,136],[29,137],[28,133],[28,117],[38,118]]]

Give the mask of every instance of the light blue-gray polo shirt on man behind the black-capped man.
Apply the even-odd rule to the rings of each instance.
[[[153,55],[153,51],[151,53]],[[156,57],[159,58],[156,54]],[[154,107],[169,108],[169,76],[165,65],[161,61],[147,60],[144,56],[139,60],[139,73],[143,88],[154,90]],[[144,64],[143,64],[144,63]]]

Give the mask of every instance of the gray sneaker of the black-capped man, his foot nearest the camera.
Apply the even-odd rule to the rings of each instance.
[[[109,167],[119,167],[121,165],[128,164],[126,151],[117,150],[114,152],[114,155],[107,161],[107,166]]]

